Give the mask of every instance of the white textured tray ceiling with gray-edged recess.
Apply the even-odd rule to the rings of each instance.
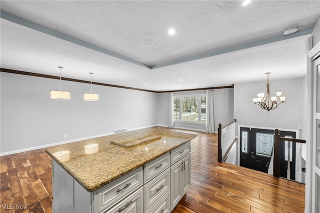
[[[58,75],[63,65],[64,77],[89,80],[90,71],[96,82],[155,91],[265,80],[267,71],[270,80],[301,77],[304,41],[320,15],[319,0],[253,0],[246,7],[241,1],[1,0],[0,6],[2,68]],[[299,31],[282,35],[292,25]]]

